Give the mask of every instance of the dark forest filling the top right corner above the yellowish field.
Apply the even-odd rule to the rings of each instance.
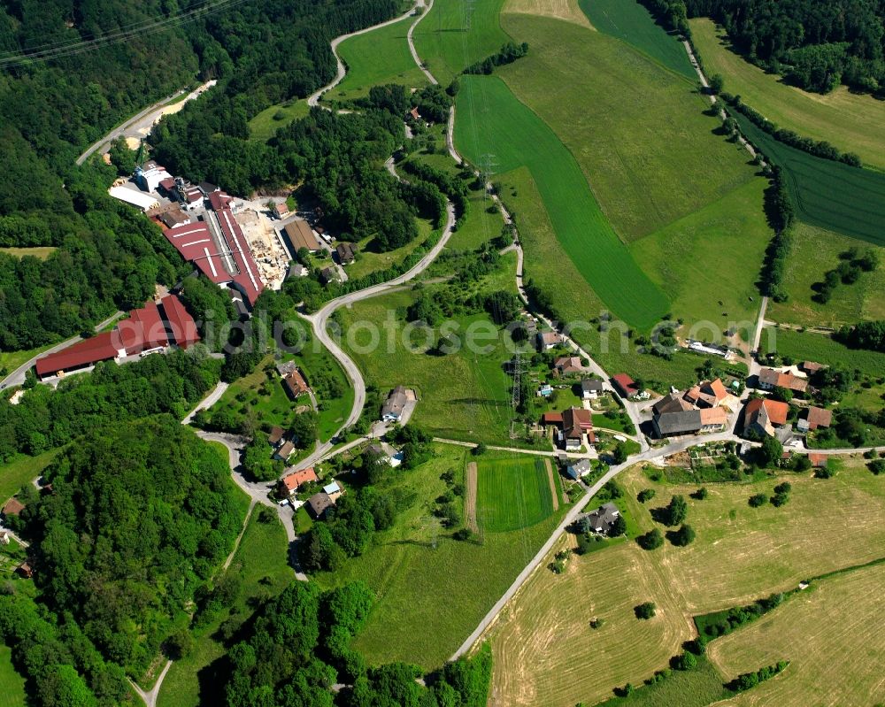
[[[726,28],[735,50],[790,83],[827,93],[840,84],[885,91],[885,6],[878,0],[642,0],[668,29],[687,17]]]

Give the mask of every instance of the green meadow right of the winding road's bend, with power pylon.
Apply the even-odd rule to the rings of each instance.
[[[422,343],[419,350],[412,352],[404,345],[404,322],[397,319],[396,312],[412,304],[413,297],[408,291],[397,292],[354,304],[352,309],[342,312],[347,333],[342,345],[359,366],[366,383],[382,393],[400,384],[415,388],[419,403],[412,422],[436,436],[493,444],[511,442],[511,380],[504,373],[504,363],[512,354],[504,348],[502,338],[496,337],[487,354],[465,347],[449,356],[434,356],[425,350],[427,345],[435,345],[438,334],[428,342],[423,342],[426,337],[416,334],[416,343],[419,339]],[[357,327],[350,332],[355,322],[373,322],[381,327],[390,318],[398,324],[389,348],[383,329],[378,349],[369,345],[371,334],[365,328]],[[463,335],[466,327],[475,322],[488,321],[484,315],[460,318],[460,333]]]

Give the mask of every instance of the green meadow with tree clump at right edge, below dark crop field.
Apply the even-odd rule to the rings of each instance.
[[[873,273],[861,273],[854,284],[837,286],[827,304],[815,302],[812,286],[842,262],[840,253],[858,246],[861,251],[875,249],[882,265]],[[863,319],[885,319],[885,249],[798,221],[793,227],[793,250],[784,287],[789,300],[768,303],[766,317],[772,321],[836,328]]]

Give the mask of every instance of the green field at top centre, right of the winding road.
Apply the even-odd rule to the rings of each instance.
[[[495,54],[511,39],[501,29],[504,0],[435,0],[412,34],[418,56],[447,85],[458,73]]]

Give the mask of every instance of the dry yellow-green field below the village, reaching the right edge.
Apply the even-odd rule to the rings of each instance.
[[[784,480],[793,487],[789,503],[750,508],[750,496],[772,496]],[[651,509],[674,494],[688,500],[687,522],[696,541],[686,548],[666,542],[648,559],[691,614],[749,603],[808,577],[885,556],[885,479],[873,476],[859,456],[847,459],[832,479],[784,473],[752,484],[706,484],[704,501],[689,498],[697,485],[653,483],[638,466],[620,481],[643,530],[654,525]],[[643,488],[657,492],[645,505],[635,500]]]

